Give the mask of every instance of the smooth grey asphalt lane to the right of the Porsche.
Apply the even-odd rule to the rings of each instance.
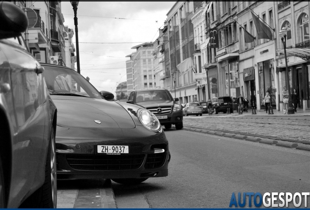
[[[310,192],[308,151],[186,130],[166,136],[169,175],[135,187],[112,182],[118,208],[229,208],[232,192]]]

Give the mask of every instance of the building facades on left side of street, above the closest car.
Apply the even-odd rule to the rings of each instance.
[[[76,56],[72,43],[74,32],[64,26],[61,1],[14,1],[37,20],[23,34],[30,53],[41,63],[53,63],[74,69]]]

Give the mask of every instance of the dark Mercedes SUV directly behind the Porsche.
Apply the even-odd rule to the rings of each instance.
[[[166,129],[175,125],[176,130],[183,128],[183,114],[181,105],[176,104],[178,98],[164,88],[133,90],[127,103],[135,104],[150,110]]]

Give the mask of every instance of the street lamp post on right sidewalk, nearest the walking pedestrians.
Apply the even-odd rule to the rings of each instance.
[[[290,76],[289,76],[289,67],[288,67],[288,61],[287,61],[287,55],[286,55],[286,35],[287,35],[287,28],[283,27],[282,30],[280,31],[279,35],[281,37],[281,41],[284,47],[284,57],[285,57],[285,80],[286,80],[286,86],[289,91],[289,110],[288,114],[295,114],[294,108],[292,106],[292,101],[291,101],[291,85],[290,85]]]

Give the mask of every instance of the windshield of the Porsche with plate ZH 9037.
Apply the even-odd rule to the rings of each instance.
[[[102,96],[82,75],[61,66],[45,66],[43,76],[51,95],[100,98]]]

